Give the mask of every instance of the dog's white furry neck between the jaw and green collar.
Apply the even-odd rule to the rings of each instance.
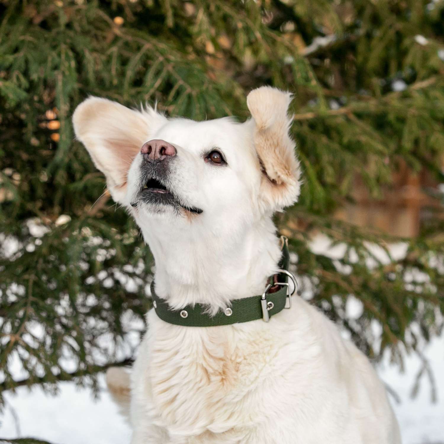
[[[174,309],[208,304],[215,313],[228,301],[261,294],[281,258],[270,218],[232,230],[142,227],[155,258],[155,288]]]

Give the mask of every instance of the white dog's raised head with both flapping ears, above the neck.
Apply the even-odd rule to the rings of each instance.
[[[77,107],[77,138],[107,178],[116,202],[139,225],[213,228],[258,221],[297,200],[299,164],[289,136],[291,96],[271,87],[251,91],[245,123],[195,122],[136,111],[90,97]]]

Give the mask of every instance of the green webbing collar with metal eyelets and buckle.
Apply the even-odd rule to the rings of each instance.
[[[288,239],[281,236],[282,258],[279,262],[279,273],[271,276],[262,295],[234,299],[225,310],[220,309],[214,316],[206,312],[207,305],[186,305],[182,309],[173,310],[165,299],[155,293],[155,283],[151,283],[151,295],[157,316],[165,322],[184,327],[214,327],[230,325],[238,322],[249,322],[257,319],[270,321],[270,317],[291,308],[291,295],[288,278],[293,280],[296,289],[296,279],[289,272],[290,256]],[[293,293],[292,293],[293,294]]]

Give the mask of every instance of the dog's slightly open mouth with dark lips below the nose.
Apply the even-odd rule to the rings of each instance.
[[[188,206],[181,202],[171,190],[169,190],[162,182],[155,178],[147,178],[143,187],[140,189],[135,202],[131,202],[131,206],[137,207],[139,202],[144,202],[153,206],[172,206],[173,208],[183,209],[190,213],[201,214],[203,210],[196,206]]]

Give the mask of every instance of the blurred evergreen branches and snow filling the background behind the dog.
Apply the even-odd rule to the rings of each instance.
[[[294,95],[304,183],[275,222],[299,297],[374,362],[404,444],[444,443],[443,0],[0,0],[2,442],[129,442],[103,372],[154,264],[76,105],[243,121],[265,84]]]

